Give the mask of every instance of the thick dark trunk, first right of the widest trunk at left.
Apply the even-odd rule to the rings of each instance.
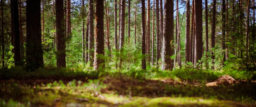
[[[57,67],[66,67],[65,34],[64,34],[64,2],[56,0],[56,34],[57,34]]]

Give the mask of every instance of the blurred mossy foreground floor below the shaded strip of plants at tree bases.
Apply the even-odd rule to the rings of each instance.
[[[208,82],[125,74],[5,78],[0,79],[0,107],[256,107],[255,81]]]

